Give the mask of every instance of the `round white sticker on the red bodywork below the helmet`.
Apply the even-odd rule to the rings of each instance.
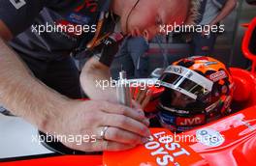
[[[208,147],[219,147],[225,142],[224,137],[219,133],[219,131],[211,128],[197,130],[196,137],[199,143]]]

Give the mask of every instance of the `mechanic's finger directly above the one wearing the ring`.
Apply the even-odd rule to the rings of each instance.
[[[120,129],[131,131],[143,137],[150,136],[149,128],[145,124],[138,122],[134,119],[117,114],[109,114],[104,117],[105,118],[103,119],[101,126],[114,126]],[[149,124],[149,121],[146,121],[146,123]]]

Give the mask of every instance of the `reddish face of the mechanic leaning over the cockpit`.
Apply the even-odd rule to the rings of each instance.
[[[140,0],[128,19],[128,34],[149,41],[160,32],[160,25],[182,24],[187,17],[189,0]],[[126,30],[126,17],[121,16]]]

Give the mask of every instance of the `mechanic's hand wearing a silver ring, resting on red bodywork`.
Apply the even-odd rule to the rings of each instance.
[[[53,124],[55,132],[65,135],[96,135],[96,142],[63,143],[83,152],[123,151],[146,142],[150,135],[143,110],[107,101],[69,101],[66,110]],[[109,126],[104,139],[101,131]],[[95,141],[95,140],[94,140]]]

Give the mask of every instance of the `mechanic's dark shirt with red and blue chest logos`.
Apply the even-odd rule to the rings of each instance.
[[[10,45],[17,52],[54,60],[90,41],[100,12],[110,5],[111,0],[0,0],[0,19],[14,34]]]

